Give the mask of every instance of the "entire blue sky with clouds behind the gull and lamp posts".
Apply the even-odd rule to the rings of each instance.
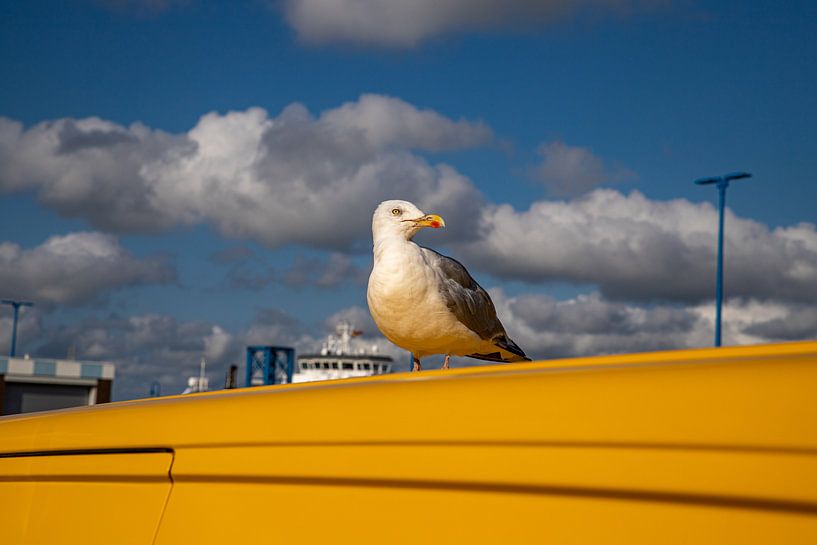
[[[116,362],[119,398],[339,316],[393,350],[365,311],[380,197],[445,212],[421,242],[534,356],[705,345],[715,192],[692,180],[734,170],[726,342],[817,335],[813,3],[399,5],[3,2],[22,349]]]

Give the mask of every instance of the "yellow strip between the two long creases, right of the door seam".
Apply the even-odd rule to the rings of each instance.
[[[521,493],[626,491],[727,503],[764,498],[813,504],[817,512],[817,456],[769,453],[484,444],[207,448],[180,450],[173,476],[177,484],[235,479],[456,488],[467,483]]]

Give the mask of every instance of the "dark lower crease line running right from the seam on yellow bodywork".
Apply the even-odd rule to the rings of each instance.
[[[759,497],[656,492],[649,490],[621,490],[611,488],[585,488],[570,486],[513,485],[482,482],[447,482],[399,479],[365,479],[333,477],[264,477],[236,475],[184,475],[177,476],[178,483],[245,484],[245,485],[300,485],[337,486],[358,488],[392,488],[415,490],[438,490],[475,493],[524,494],[541,496],[566,496],[573,498],[596,498],[638,502],[673,503],[703,507],[776,511],[817,517],[817,504],[809,502],[775,500]]]

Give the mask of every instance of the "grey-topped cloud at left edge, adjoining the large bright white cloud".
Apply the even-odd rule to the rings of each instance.
[[[156,232],[176,220],[158,213],[144,165],[193,151],[185,136],[98,118],[63,119],[23,130],[0,117],[0,191],[34,190],[64,216],[106,231]]]

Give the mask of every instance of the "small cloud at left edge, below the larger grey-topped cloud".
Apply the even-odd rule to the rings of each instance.
[[[126,286],[174,279],[164,261],[140,260],[102,233],[54,236],[31,249],[0,243],[0,290],[38,305],[81,304]]]

